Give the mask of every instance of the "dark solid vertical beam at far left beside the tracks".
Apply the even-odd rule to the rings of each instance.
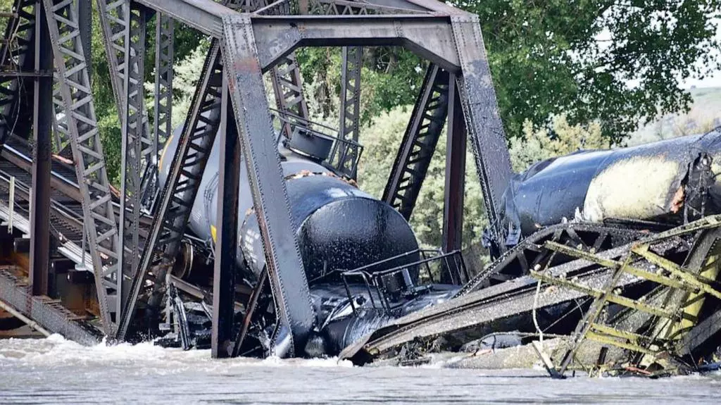
[[[36,10],[45,13],[40,0]],[[38,14],[38,15],[43,15]],[[35,71],[53,70],[48,22],[35,20]],[[30,206],[30,277],[33,295],[48,295],[50,284],[50,138],[53,130],[53,79],[35,78],[32,110],[32,205]]]

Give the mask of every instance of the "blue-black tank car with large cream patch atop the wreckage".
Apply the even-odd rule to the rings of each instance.
[[[505,190],[503,243],[514,246],[541,228],[568,221],[673,226],[718,213],[720,161],[717,133],[540,161],[516,174]]]

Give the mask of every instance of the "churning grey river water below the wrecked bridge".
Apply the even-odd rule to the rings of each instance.
[[[718,402],[721,374],[551,380],[543,370],[359,368],[336,360],[211,360],[151,343],[0,340],[0,404],[487,404]]]

